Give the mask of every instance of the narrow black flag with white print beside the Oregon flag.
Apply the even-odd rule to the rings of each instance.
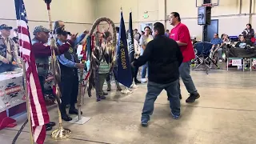
[[[130,12],[130,20],[129,20],[129,32],[128,32],[128,50],[130,62],[134,62],[134,33],[133,33],[133,20],[132,13]]]

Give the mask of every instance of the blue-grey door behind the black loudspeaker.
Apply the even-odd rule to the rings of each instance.
[[[210,25],[207,26],[205,41],[210,42],[210,40],[214,38],[215,33],[218,34],[218,19],[212,19],[210,21]],[[219,37],[220,37],[220,35],[219,35]]]

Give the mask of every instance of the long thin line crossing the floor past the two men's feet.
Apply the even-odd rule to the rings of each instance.
[[[86,98],[92,100],[92,98]],[[93,99],[94,100],[94,99]],[[104,101],[110,101],[110,102],[132,102],[132,103],[144,103],[144,102],[136,102],[136,101],[123,101],[123,100],[110,100],[105,99]],[[165,105],[169,106],[169,104],[163,104],[163,103],[154,103],[157,105]],[[245,109],[231,109],[231,108],[223,108],[223,107],[208,107],[208,106],[188,106],[188,105],[182,105],[184,107],[198,107],[198,108],[206,108],[206,109],[215,109],[215,110],[236,110],[236,111],[248,111],[248,112],[256,112],[256,110],[245,110]]]

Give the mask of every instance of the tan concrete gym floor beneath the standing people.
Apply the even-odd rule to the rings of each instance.
[[[192,71],[192,78],[201,98],[187,104],[182,84],[181,119],[170,117],[166,92],[159,95],[148,127],[140,126],[146,84],[139,85],[133,94],[121,95],[113,90],[105,101],[87,98],[82,106],[83,116],[90,117],[84,125],[63,122],[72,130],[70,138],[54,141],[50,132],[46,144],[51,143],[133,143],[133,144],[254,144],[256,142],[255,72],[238,70]],[[57,106],[49,107],[51,121],[58,122]],[[18,126],[0,130],[2,144],[10,144],[25,122],[18,118]],[[57,129],[58,126],[54,126]],[[17,144],[29,143],[27,126]]]

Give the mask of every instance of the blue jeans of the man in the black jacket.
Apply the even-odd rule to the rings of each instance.
[[[150,115],[153,114],[154,111],[154,101],[158,98],[162,90],[166,90],[167,93],[170,94],[169,101],[171,112],[175,115],[180,114],[181,103],[179,101],[178,80],[167,84],[148,82],[146,100],[142,110],[142,120],[150,119]]]

